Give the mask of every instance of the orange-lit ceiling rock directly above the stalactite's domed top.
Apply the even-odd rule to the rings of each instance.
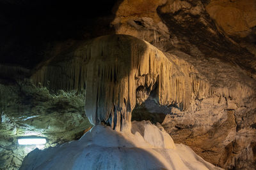
[[[159,36],[169,38],[168,27],[157,14],[157,8],[165,3],[166,0],[125,0],[114,8],[116,17],[111,25],[116,34],[131,35],[148,42],[156,41]]]

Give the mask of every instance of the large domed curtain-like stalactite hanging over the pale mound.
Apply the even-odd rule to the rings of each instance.
[[[131,111],[148,96],[186,110],[193,97],[218,92],[193,66],[132,36],[102,36],[58,56],[31,77],[51,89],[86,89],[92,124],[131,129]],[[228,94],[228,89],[223,90]]]

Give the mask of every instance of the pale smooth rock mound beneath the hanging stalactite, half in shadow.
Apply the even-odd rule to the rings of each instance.
[[[157,138],[156,138],[157,137]],[[162,129],[133,122],[132,132],[96,125],[79,141],[34,150],[20,169],[219,169],[188,146],[174,145]]]

